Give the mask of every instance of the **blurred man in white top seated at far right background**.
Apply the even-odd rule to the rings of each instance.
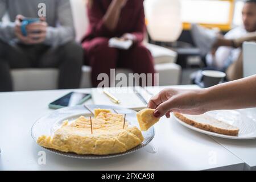
[[[206,60],[210,68],[226,72],[229,81],[242,78],[242,51],[245,41],[256,41],[256,1],[245,2],[242,9],[243,26],[230,30],[225,36],[206,30],[196,25],[192,26],[192,35],[202,54],[208,53]],[[237,44],[229,40],[238,39]]]

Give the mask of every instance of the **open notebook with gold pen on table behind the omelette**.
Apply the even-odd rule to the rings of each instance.
[[[114,103],[104,90],[108,91],[112,96],[117,98],[120,103]],[[142,87],[135,86],[122,87],[122,88],[92,88],[92,99],[96,105],[110,105],[110,106],[120,106],[127,109],[142,110],[147,107],[147,103],[152,97],[147,93]]]

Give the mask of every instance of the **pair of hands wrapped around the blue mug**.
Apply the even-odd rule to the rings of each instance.
[[[47,23],[44,18],[41,18],[41,22],[31,23],[27,26],[27,36],[22,35],[21,22],[24,16],[17,15],[15,19],[14,32],[20,42],[24,44],[39,44],[46,39]]]

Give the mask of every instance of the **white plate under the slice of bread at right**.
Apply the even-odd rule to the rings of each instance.
[[[181,123],[181,125],[188,127],[189,129],[198,131],[200,133],[204,133],[207,135],[212,135],[214,137],[220,138],[228,138],[228,139],[255,139],[256,138],[256,122],[247,117],[247,115],[242,114],[239,110],[217,110],[217,111],[210,111],[206,113],[213,118],[221,120],[223,122],[229,123],[230,125],[236,126],[240,129],[238,136],[229,136],[229,135],[222,135],[218,133],[213,133],[211,131],[205,131],[202,129],[198,129],[195,126],[188,125],[187,123],[181,121],[179,118],[173,117]]]

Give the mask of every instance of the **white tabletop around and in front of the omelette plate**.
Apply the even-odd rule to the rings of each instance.
[[[130,155],[81,160],[52,154],[32,140],[30,129],[36,119],[52,112],[48,109],[49,102],[69,91],[0,93],[0,170],[242,170],[245,167],[243,159],[215,139],[166,118],[155,125],[156,135],[150,146]],[[92,100],[87,104],[92,104]],[[150,152],[151,147],[156,153]],[[46,152],[46,165],[38,164],[40,151]]]

